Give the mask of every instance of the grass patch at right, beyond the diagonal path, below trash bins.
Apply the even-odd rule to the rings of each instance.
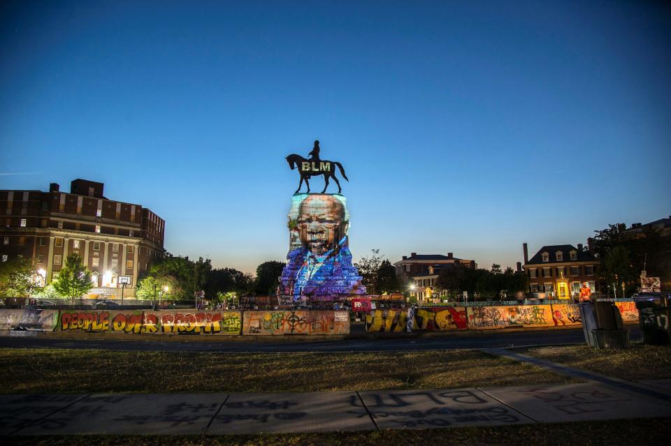
[[[600,350],[587,345],[572,345],[515,351],[625,380],[671,378],[669,345],[633,344],[626,350]]]

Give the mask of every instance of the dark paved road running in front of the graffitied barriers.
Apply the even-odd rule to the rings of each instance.
[[[628,327],[631,339],[640,339],[637,326]],[[445,350],[453,348],[509,348],[524,345],[584,343],[582,328],[536,332],[494,332],[491,334],[403,337],[398,339],[345,339],[322,342],[198,341],[184,336],[184,342],[121,339],[58,339],[47,336],[1,336],[0,348],[78,348],[164,352],[377,352]]]

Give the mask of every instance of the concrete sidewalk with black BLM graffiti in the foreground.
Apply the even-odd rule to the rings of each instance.
[[[0,396],[2,435],[373,431],[670,416],[671,404],[662,399],[596,382],[303,394]]]

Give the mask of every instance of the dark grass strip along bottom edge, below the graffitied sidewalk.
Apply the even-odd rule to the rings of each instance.
[[[13,446],[379,446],[379,445],[653,445],[671,436],[669,419],[628,419],[520,426],[459,427],[424,431],[287,433],[245,436],[12,437]]]

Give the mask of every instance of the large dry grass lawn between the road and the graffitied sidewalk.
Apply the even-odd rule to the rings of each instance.
[[[1,393],[312,392],[575,382],[470,350],[385,353],[0,349]]]

